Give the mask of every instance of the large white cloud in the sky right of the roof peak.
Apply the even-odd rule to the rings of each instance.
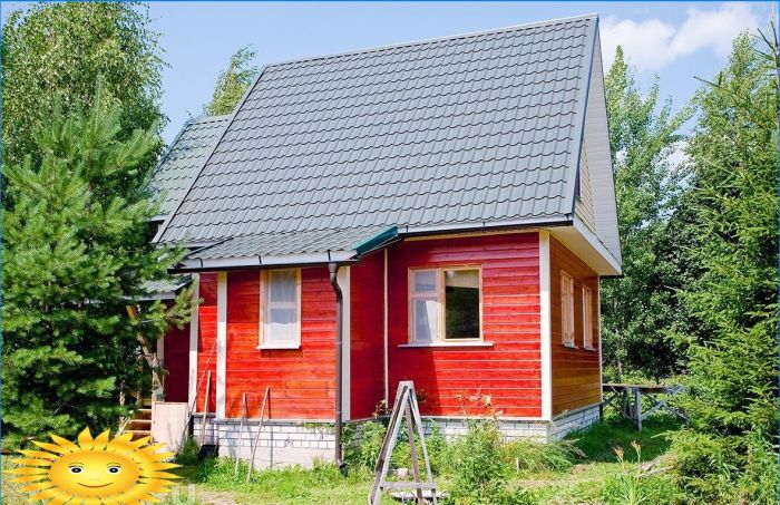
[[[749,3],[722,3],[710,10],[691,8],[680,26],[660,19],[634,21],[611,16],[601,23],[605,68],[615,59],[617,46],[640,71],[657,70],[702,50],[725,56],[739,33],[758,26]]]

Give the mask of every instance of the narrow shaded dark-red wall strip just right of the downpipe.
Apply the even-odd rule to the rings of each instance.
[[[384,253],[350,268],[350,419],[370,417],[384,397]]]

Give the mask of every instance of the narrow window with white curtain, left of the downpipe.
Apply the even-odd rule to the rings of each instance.
[[[261,274],[261,348],[301,344],[301,271],[269,270]]]

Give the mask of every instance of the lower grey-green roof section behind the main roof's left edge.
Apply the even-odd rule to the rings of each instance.
[[[162,198],[159,213],[170,214],[197,177],[204,158],[231,116],[204,116],[184,124],[152,175],[150,186]]]

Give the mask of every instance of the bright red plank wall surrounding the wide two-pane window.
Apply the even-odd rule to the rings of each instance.
[[[399,348],[409,340],[408,269],[461,264],[482,268],[482,333],[494,346]],[[423,415],[484,414],[459,399],[470,396],[507,417],[542,415],[537,233],[404,241],[390,246],[388,278],[391,397],[411,379]]]

